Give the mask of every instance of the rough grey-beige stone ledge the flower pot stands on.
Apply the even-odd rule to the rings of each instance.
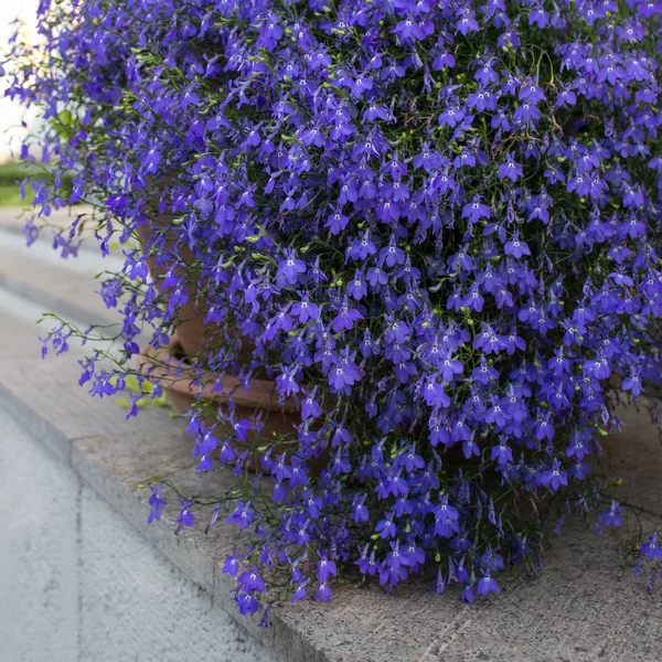
[[[0,364],[0,406],[100,494],[153,546],[286,662],[427,662],[569,660],[627,662],[662,658],[659,636],[662,591],[621,576],[616,544],[592,525],[569,522],[546,557],[538,579],[502,579],[502,592],[474,606],[438,597],[420,586],[385,595],[377,586],[339,589],[328,605],[275,606],[271,627],[242,618],[232,601],[232,579],[220,564],[234,547],[224,524],[209,535],[172,533],[178,509],[169,504],[159,524],[146,525],[148,492],[138,483],[159,473],[184,493],[217,494],[231,477],[199,478],[192,442],[181,420],[148,409],[126,421],[111,401],[92,398],[77,385],[71,357]],[[662,522],[662,444],[645,414],[627,410],[628,431],[606,445],[623,492]]]

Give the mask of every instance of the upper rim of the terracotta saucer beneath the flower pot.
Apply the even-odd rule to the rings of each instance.
[[[271,380],[250,380],[250,388],[247,389],[239,377],[224,375],[222,391],[213,391],[213,384],[205,384],[202,388],[194,386],[193,382],[196,380],[206,377],[215,381],[215,373],[211,370],[195,370],[186,361],[177,359],[172,355],[172,345],[159,349],[149,346],[141,354],[137,354],[134,362],[138,371],[146,376],[158,377],[167,389],[191,399],[201,394],[204,399],[227,402],[232,395],[232,399],[237,405],[250,405],[288,413],[299,412],[301,408],[292,397],[288,397],[282,404],[279,404],[276,382]]]

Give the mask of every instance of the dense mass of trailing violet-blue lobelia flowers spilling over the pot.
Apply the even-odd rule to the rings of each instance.
[[[201,473],[241,479],[212,514],[255,534],[224,566],[239,610],[279,573],[292,600],[328,601],[352,564],[387,589],[431,572],[473,600],[542,563],[553,499],[604,498],[610,388],[660,375],[662,3],[42,0],[40,15],[44,44],[14,43],[9,87],[43,109],[56,161],[38,215],[86,201],[58,246],[86,222],[102,250],[125,246],[100,288],[124,313],[117,369],[90,355],[82,381],[121,388],[140,331],[163,344],[194,301],[200,365],[266,373],[301,403],[277,442],[257,435],[257,477],[233,439],[259,424],[232,402],[189,416]],[[599,525],[618,526],[606,499]],[[158,519],[160,488],[150,503]],[[653,534],[640,560],[661,557]]]

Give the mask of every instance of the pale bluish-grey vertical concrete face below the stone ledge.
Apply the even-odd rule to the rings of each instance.
[[[2,662],[276,662],[1,404],[0,485]]]

